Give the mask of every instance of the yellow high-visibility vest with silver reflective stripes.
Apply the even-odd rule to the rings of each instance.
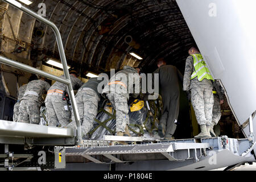
[[[214,81],[212,75],[210,75],[210,71],[207,68],[207,65],[205,64],[203,56],[200,53],[196,53],[192,56],[193,56],[193,66],[195,68],[195,72],[192,73],[191,80],[197,77],[199,81],[204,80],[204,78],[206,78],[207,80]]]

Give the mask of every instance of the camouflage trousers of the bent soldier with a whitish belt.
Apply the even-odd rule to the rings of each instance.
[[[40,104],[37,101],[23,99],[20,101],[18,122],[40,123]]]

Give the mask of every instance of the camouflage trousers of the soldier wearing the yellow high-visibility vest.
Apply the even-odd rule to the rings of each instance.
[[[191,89],[191,104],[199,125],[212,125],[213,103],[212,89]]]

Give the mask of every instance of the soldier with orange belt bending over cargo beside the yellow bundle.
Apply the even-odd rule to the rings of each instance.
[[[140,81],[138,71],[126,65],[121,71],[115,73],[110,78],[108,85],[102,90],[103,96],[106,94],[106,97],[108,97],[116,110],[115,133],[117,136],[130,136],[127,126],[129,125],[129,107],[127,101],[129,100],[129,93],[134,98],[138,97],[139,93],[134,93],[133,86],[137,81],[138,83]]]

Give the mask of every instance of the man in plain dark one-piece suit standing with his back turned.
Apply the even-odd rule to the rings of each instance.
[[[156,62],[158,69],[155,73],[159,74],[159,85],[163,99],[163,113],[159,121],[159,137],[174,139],[172,135],[176,130],[177,117],[179,115],[180,89],[179,80],[183,81],[183,75],[173,65],[166,65],[163,58]]]

